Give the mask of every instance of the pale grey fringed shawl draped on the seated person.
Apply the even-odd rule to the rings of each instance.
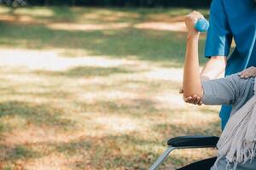
[[[223,157],[228,162],[227,167],[232,164],[231,169],[236,169],[237,163],[252,161],[256,156],[256,83],[254,83],[253,89],[253,97],[230,116],[230,120],[218,140],[216,167],[217,162]]]

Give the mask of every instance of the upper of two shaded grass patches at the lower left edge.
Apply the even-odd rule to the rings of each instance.
[[[16,127],[26,127],[28,124],[34,124],[67,129],[75,125],[75,122],[61,116],[62,111],[60,109],[52,108],[49,105],[36,105],[17,101],[0,103],[0,122],[3,123],[3,119],[6,117],[8,119],[18,118],[15,123]],[[4,124],[8,125],[7,123]]]

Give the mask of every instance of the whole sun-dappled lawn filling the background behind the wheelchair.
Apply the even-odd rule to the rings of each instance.
[[[177,93],[189,11],[0,7],[0,169],[148,169],[170,137],[219,135],[219,107]]]

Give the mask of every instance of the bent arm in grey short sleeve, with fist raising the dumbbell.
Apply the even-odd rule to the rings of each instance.
[[[189,35],[183,69],[183,97],[197,95],[206,105],[234,105],[242,94],[240,91],[244,89],[240,86],[243,81],[237,74],[201,82],[198,59],[199,32],[194,28],[195,21],[201,17],[201,14],[194,11],[185,19]]]

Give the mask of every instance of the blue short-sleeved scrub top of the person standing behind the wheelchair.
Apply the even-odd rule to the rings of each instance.
[[[205,56],[229,56],[232,38],[236,48],[228,57],[225,76],[256,66],[256,3],[253,0],[213,0],[210,8]],[[219,116],[222,129],[230,118],[231,106],[223,105]]]

